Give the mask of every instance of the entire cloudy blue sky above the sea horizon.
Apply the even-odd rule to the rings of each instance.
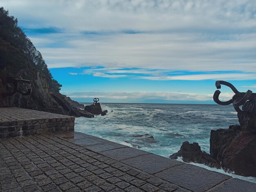
[[[79,102],[214,104],[256,92],[255,0],[0,0]],[[220,98],[231,89],[222,86]]]

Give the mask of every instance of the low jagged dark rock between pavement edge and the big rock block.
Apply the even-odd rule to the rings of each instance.
[[[195,162],[208,165],[209,167],[220,167],[220,163],[210,154],[202,151],[198,143],[190,144],[188,141],[183,142],[180,150],[169,157],[171,159],[182,157],[186,163]]]

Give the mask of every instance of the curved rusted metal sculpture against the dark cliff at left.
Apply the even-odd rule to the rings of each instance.
[[[28,69],[28,68],[25,68],[25,69],[21,69],[20,71],[18,71],[18,73],[16,74],[16,78],[13,78],[13,77],[0,77],[0,79],[2,80],[2,83],[3,84],[6,84],[6,83],[11,83],[13,84],[14,86],[14,89],[12,92],[9,92],[9,93],[3,93],[2,96],[13,96],[15,95],[17,92],[19,92],[20,94],[22,95],[29,95],[31,94],[32,92],[32,87],[30,86],[31,84],[31,81],[30,80],[24,80],[24,79],[20,79],[19,76],[23,73],[23,72],[31,72],[31,74],[33,74],[34,76],[34,79],[37,79],[37,75],[34,71],[32,71],[31,69]],[[22,92],[18,89],[18,83],[25,83],[25,84],[28,84],[29,87],[27,88],[27,91],[26,92]]]

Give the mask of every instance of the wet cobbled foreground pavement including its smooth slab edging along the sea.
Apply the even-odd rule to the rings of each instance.
[[[256,191],[256,184],[78,132],[0,139],[0,191]]]

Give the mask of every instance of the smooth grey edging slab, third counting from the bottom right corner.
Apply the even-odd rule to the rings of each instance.
[[[126,159],[121,162],[135,167],[139,170],[148,172],[149,174],[155,174],[168,168],[184,164],[180,161],[175,161],[173,159],[169,159],[155,154],[148,154],[131,159]]]

